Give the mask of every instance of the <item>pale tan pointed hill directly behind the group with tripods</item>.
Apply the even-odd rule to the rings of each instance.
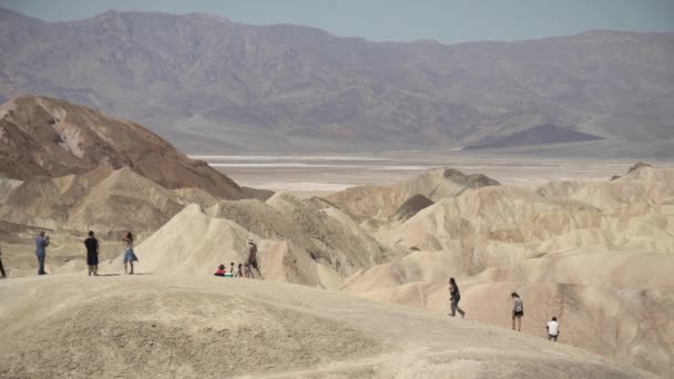
[[[266,278],[327,288],[399,254],[340,211],[316,209],[286,193],[266,203],[190,205],[145,239],[137,254],[146,270],[211,275],[219,264],[245,262],[248,238],[258,245]]]

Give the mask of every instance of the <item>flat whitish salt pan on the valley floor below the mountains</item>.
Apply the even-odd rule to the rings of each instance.
[[[245,186],[327,194],[355,185],[391,185],[433,168],[480,173],[503,184],[537,185],[550,181],[601,181],[623,173],[634,158],[538,158],[474,152],[388,152],[377,155],[191,155],[208,162]],[[674,167],[672,161],[653,161]]]

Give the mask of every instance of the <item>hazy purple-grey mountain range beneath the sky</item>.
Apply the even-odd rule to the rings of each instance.
[[[67,99],[187,152],[466,146],[555,124],[674,154],[672,33],[443,45],[197,13],[0,20],[0,100]]]

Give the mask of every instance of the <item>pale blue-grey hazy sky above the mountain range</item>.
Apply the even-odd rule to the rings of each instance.
[[[48,21],[84,19],[109,9],[206,12],[378,41],[521,40],[596,29],[674,31],[674,0],[0,0],[0,7]]]

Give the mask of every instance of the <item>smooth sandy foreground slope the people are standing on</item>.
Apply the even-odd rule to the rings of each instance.
[[[273,281],[0,285],[2,378],[646,378],[563,344]]]

